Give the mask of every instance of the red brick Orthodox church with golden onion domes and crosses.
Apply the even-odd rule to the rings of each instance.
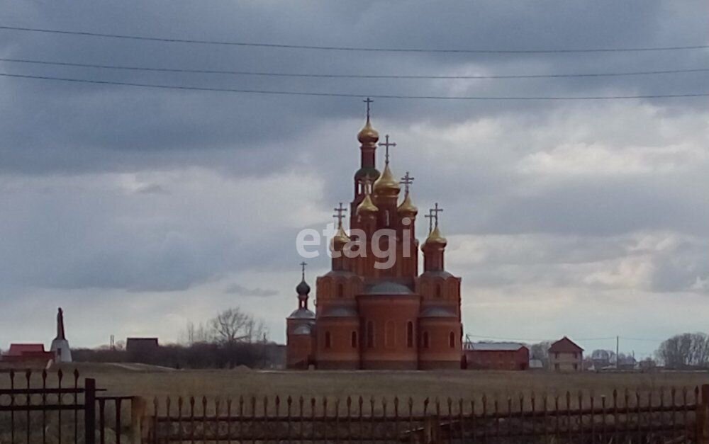
[[[418,209],[406,173],[395,178],[389,147],[379,143],[367,122],[359,131],[361,165],[354,173],[350,234],[342,224],[347,210],[336,208],[337,232],[330,244],[332,269],[316,281],[314,312],[311,287],[296,287],[298,309],[286,319],[288,368],[455,369],[462,364],[460,278],[444,267],[447,241],[439,227],[438,204],[428,215],[428,237],[415,238]],[[376,169],[376,149],[386,150],[384,171]],[[404,186],[403,197],[401,185]],[[382,232],[390,235],[381,236]],[[393,243],[393,245],[392,245]],[[418,249],[423,252],[419,274]],[[384,264],[382,251],[393,252]]]

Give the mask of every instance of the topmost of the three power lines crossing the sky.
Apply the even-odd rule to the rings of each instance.
[[[26,28],[21,26],[2,26],[0,29],[27,31],[33,33],[52,33],[65,35],[84,35],[89,37],[119,38],[125,40],[150,40],[154,42],[171,43],[192,43],[197,45],[228,45],[243,47],[271,47],[289,50],[325,50],[325,51],[361,51],[361,52],[435,52],[435,53],[463,53],[463,54],[554,54],[570,52],[652,52],[652,51],[676,51],[676,50],[704,50],[709,45],[686,45],[686,46],[666,46],[666,47],[626,47],[626,48],[574,48],[574,49],[554,49],[554,50],[484,50],[484,49],[422,49],[422,48],[388,48],[388,47],[350,47],[350,46],[318,46],[318,45],[286,45],[281,43],[259,43],[259,42],[230,42],[221,40],[195,40],[186,38],[164,38],[147,37],[145,35],[126,35],[92,33],[88,31],[57,30],[47,28]]]

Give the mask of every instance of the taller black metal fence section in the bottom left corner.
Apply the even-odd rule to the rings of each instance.
[[[132,397],[101,397],[91,378],[74,370],[6,373],[0,383],[0,443],[121,444],[132,433],[122,416]],[[128,424],[129,426],[129,424]],[[124,438],[125,439],[125,438]]]

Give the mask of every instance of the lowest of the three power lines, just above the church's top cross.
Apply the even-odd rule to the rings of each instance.
[[[183,91],[214,91],[225,93],[250,93],[250,94],[268,94],[277,96],[316,96],[316,97],[351,97],[351,98],[391,98],[391,99],[417,99],[417,100],[450,100],[450,101],[606,101],[606,100],[628,100],[642,98],[691,98],[691,97],[708,97],[709,93],[686,93],[686,94],[649,94],[637,96],[403,96],[396,94],[355,94],[355,93],[318,93],[312,91],[274,91],[262,89],[230,89],[230,88],[212,88],[208,86],[178,86],[178,85],[160,85],[160,84],[140,84],[125,81],[108,81],[108,80],[91,80],[91,79],[73,79],[69,77],[54,77],[54,76],[35,76],[30,74],[9,74],[0,73],[3,77],[13,77],[16,79],[38,79],[52,81],[67,81],[72,83],[82,84],[102,84],[102,85],[118,85],[118,86],[135,86],[140,88],[154,89],[177,89]]]

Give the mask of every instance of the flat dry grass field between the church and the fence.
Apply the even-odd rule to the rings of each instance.
[[[365,399],[386,397],[393,399],[413,397],[435,399],[518,397],[531,392],[549,396],[565,395],[570,391],[574,398],[579,390],[584,396],[610,397],[613,389],[631,389],[640,392],[659,392],[670,387],[694,387],[709,384],[709,372],[652,372],[652,373],[576,373],[553,372],[489,372],[489,371],[439,371],[439,372],[386,372],[386,371],[259,371],[235,370],[166,370],[141,365],[77,365],[82,377],[96,378],[96,385],[107,394],[142,395],[144,397],[269,397],[281,399],[292,396],[328,397],[345,399],[363,396]],[[71,372],[74,366],[65,366]],[[0,377],[6,380],[6,377]],[[6,385],[6,381],[0,382]],[[669,392],[668,392],[669,396]],[[681,396],[681,390],[678,397]]]

